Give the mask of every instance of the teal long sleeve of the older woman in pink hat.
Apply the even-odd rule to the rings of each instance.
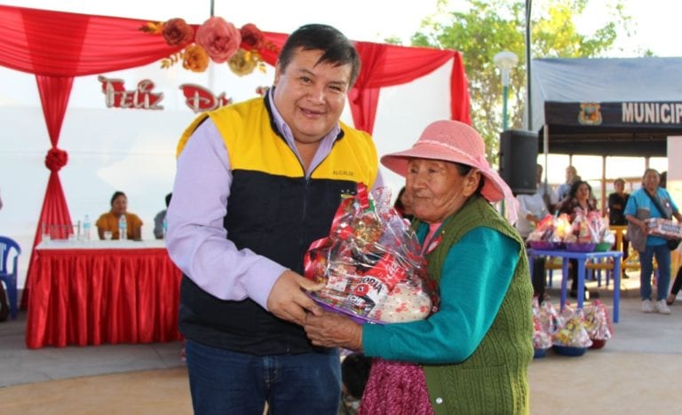
[[[420,364],[464,361],[496,318],[516,269],[518,249],[516,242],[490,228],[467,232],[450,247],[440,270],[439,311],[410,323],[363,325],[365,354]]]

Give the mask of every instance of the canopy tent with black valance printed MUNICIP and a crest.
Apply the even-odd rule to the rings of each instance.
[[[530,129],[538,132],[539,153],[601,156],[603,197],[607,178],[614,178],[607,174],[607,157],[646,158],[644,165],[649,158],[678,159],[680,68],[682,58],[534,59]],[[682,202],[682,168],[667,164],[669,190]],[[628,176],[643,173],[625,170]]]

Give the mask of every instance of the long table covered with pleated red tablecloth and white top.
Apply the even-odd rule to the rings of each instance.
[[[181,272],[163,241],[50,241],[34,266],[28,348],[181,339]]]

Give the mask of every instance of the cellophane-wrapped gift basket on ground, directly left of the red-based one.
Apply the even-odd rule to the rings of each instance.
[[[582,356],[592,344],[585,329],[583,309],[567,307],[559,313],[559,328],[552,334],[554,351],[564,356]]]

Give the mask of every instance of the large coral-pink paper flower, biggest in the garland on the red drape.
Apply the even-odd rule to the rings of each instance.
[[[242,35],[232,23],[213,16],[203,22],[196,31],[196,43],[202,46],[216,63],[232,58],[242,43]]]

